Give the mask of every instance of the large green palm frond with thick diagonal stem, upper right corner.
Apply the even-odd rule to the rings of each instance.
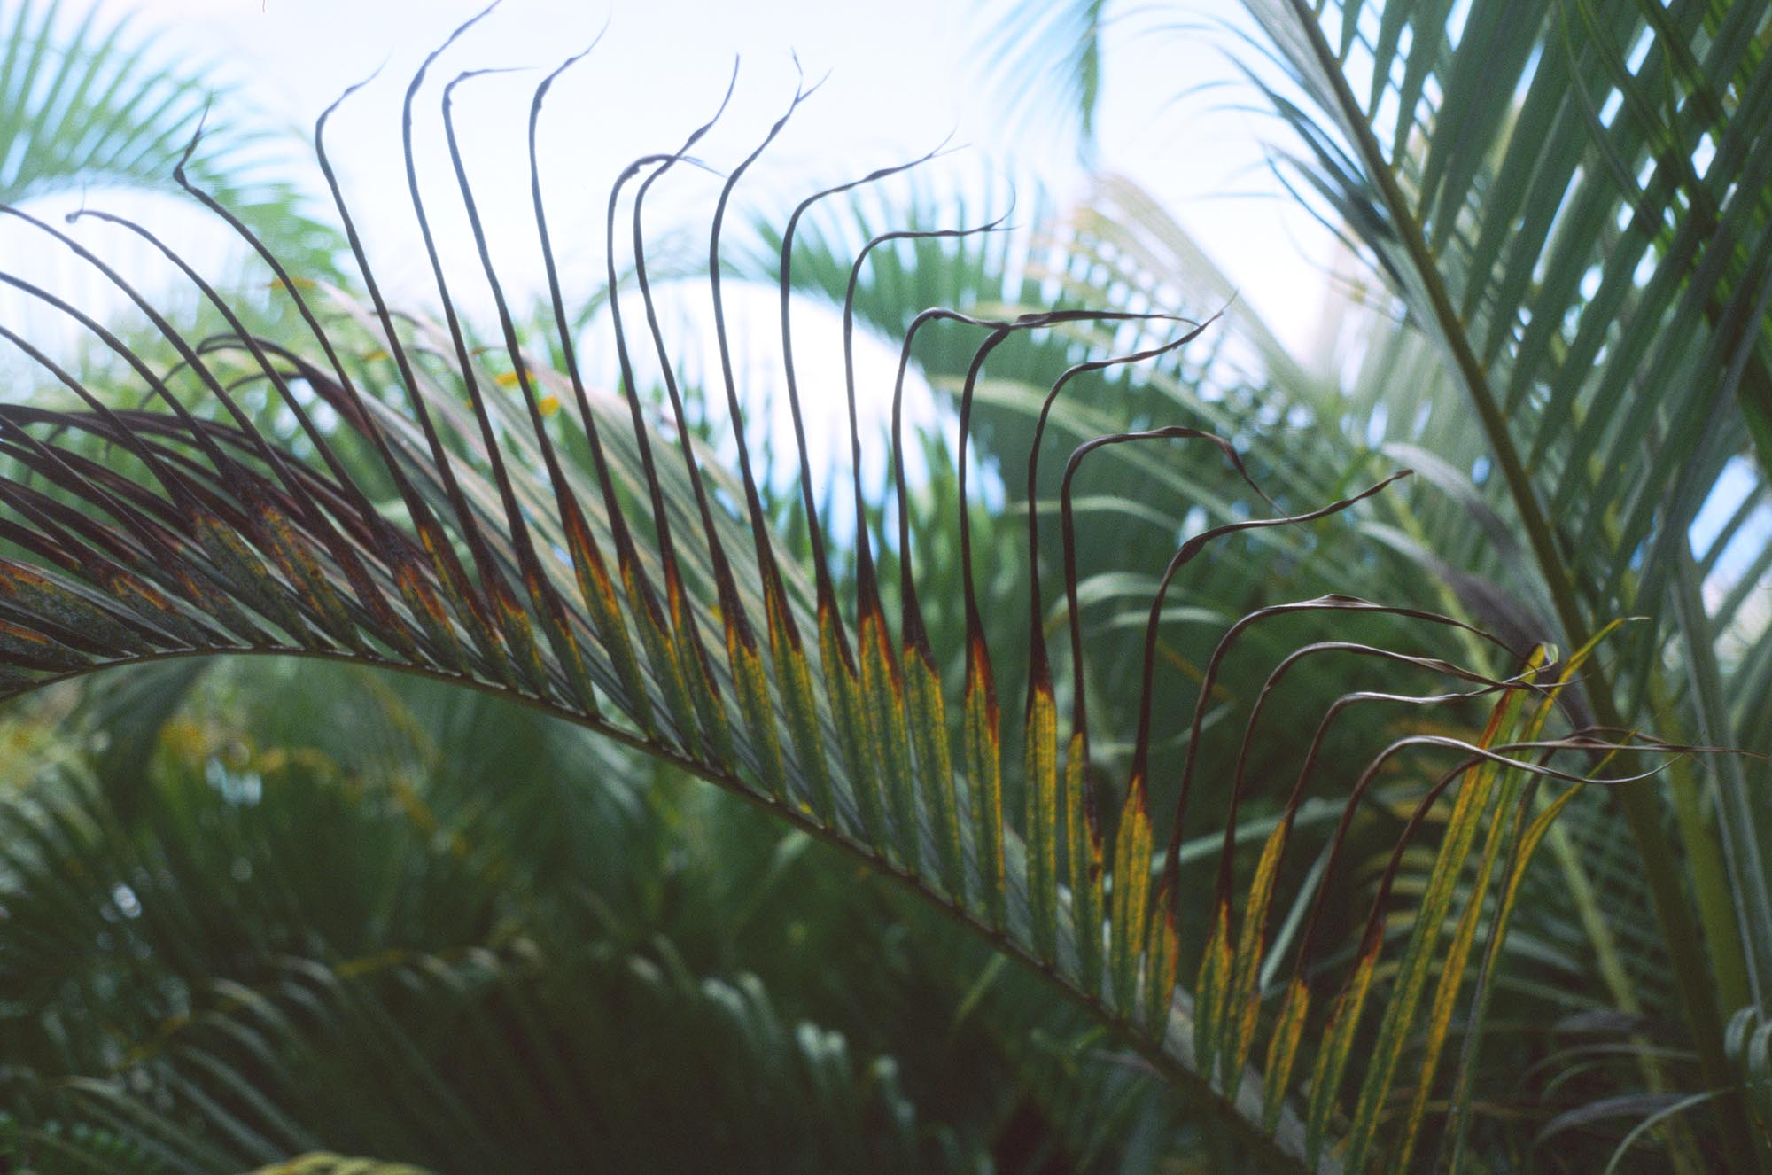
[[[1306,144],[1299,168],[1442,349],[1565,634],[1579,645],[1607,615],[1669,613],[1675,551],[1699,503],[1731,457],[1756,454],[1765,470],[1772,452],[1767,12],[1570,4],[1517,19],[1497,4],[1457,32],[1439,5],[1386,5],[1375,19],[1359,5],[1251,12],[1302,94],[1276,94]],[[1591,681],[1604,723],[1632,705],[1611,682],[1644,693],[1662,640],[1646,629],[1637,642]],[[1705,728],[1722,737],[1710,652],[1689,643],[1689,656],[1712,686]],[[1655,799],[1618,796],[1705,1079],[1722,1085],[1715,992]],[[1753,833],[1738,813],[1728,824],[1742,861]],[[1685,847],[1715,854],[1705,838]],[[1754,860],[1735,884],[1758,909]],[[1706,930],[1731,950],[1733,927]],[[1763,973],[1760,929],[1742,941]],[[1747,1170],[1740,1115],[1724,1120],[1731,1163]]]

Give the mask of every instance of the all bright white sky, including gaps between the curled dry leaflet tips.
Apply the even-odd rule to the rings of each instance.
[[[1198,2],[1201,7],[1194,11],[1187,4],[1162,11],[1170,18],[1193,12],[1196,25],[1210,23],[1203,16],[1209,9],[1226,11]],[[222,117],[229,103],[237,103],[255,119],[307,136],[321,110],[374,74],[328,122],[328,154],[390,301],[432,307],[436,287],[402,174],[400,103],[424,57],[482,5],[484,0],[97,0],[101,21],[128,18],[138,35],[156,35],[168,62],[230,85],[234,96],[218,108]],[[760,142],[785,110],[801,71],[806,80],[822,78],[822,85],[746,175],[728,213],[727,241],[734,252],[742,248],[748,213],[776,213],[780,223],[780,214],[804,195],[918,158],[943,140],[960,149],[918,168],[920,183],[966,193],[973,209],[987,193],[1001,200],[1010,186],[1017,202],[1028,206],[1035,186],[1060,206],[1079,198],[1088,175],[1077,163],[1074,140],[1035,121],[1006,126],[1008,92],[982,50],[989,28],[983,7],[964,0],[893,5],[505,0],[439,58],[416,105],[416,168],[452,275],[452,298],[491,330],[493,303],[478,278],[473,237],[443,145],[443,85],[464,69],[517,71],[464,83],[454,122],[500,276],[514,301],[525,305],[546,292],[528,191],[530,94],[548,71],[595,41],[604,25],[590,57],[551,90],[540,128],[549,227],[569,300],[574,291],[590,292],[602,282],[602,209],[613,177],[636,156],[677,147],[691,128],[707,121],[735,60],[732,103],[696,149],[718,168],[732,167]],[[69,12],[69,19],[74,16]],[[1239,303],[1262,314],[1290,346],[1306,347],[1322,310],[1329,237],[1272,177],[1265,144],[1281,138],[1283,129],[1253,112],[1260,97],[1224,55],[1230,41],[1223,30],[1154,28],[1150,21],[1111,27],[1095,163],[1152,191],[1205,245],[1235,284]],[[305,179],[317,207],[330,209],[319,170],[303,149],[282,170]],[[677,168],[670,183],[649,195],[649,229],[666,241],[675,229],[684,246],[705,250],[689,246],[686,234],[691,229],[696,237],[705,234],[718,188],[711,175]],[[90,204],[138,214],[129,197],[119,193],[94,193]],[[149,202],[140,216],[209,273],[234,269],[245,257],[197,209],[163,200]],[[144,246],[105,225],[92,225],[83,236],[119,269],[154,285],[145,275],[156,266]],[[0,250],[11,250],[14,259],[32,253],[39,268],[58,273],[60,282],[51,285],[67,289],[71,282],[87,305],[103,303],[103,287],[90,271],[43,245],[28,241],[16,225],[0,225]],[[716,349],[705,284],[686,284],[661,301],[666,331],[691,338],[686,353],[711,363]],[[35,337],[66,328],[48,323],[53,312],[43,307],[5,310],[23,314]],[[728,285],[728,315],[741,370],[755,385],[780,385],[774,294]],[[836,386],[842,351],[835,315],[815,307],[799,310],[794,347],[803,386]],[[895,346],[884,340],[858,347],[858,367],[865,379],[872,372],[874,383],[890,381],[895,358]],[[643,369],[641,379],[647,377]],[[867,399],[875,406],[886,402],[884,395]],[[776,402],[773,411],[773,427],[785,441],[785,404]],[[840,399],[808,397],[808,416],[813,464],[847,466]],[[921,386],[909,390],[907,416],[921,425],[943,420]]]

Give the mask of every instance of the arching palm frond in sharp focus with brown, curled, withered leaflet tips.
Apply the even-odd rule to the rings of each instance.
[[[657,326],[643,269],[641,200],[696,144],[705,126],[677,151],[645,156],[629,167],[608,206],[613,291],[622,186],[643,175],[634,191],[633,245],[647,342],[666,372],[670,418],[661,425],[650,418],[633,376],[631,349],[643,346],[624,330],[622,312],[633,312],[633,298],[611,294],[610,300],[620,392],[594,390],[583,381],[565,333],[560,337],[562,372],[549,372],[519,349],[494,262],[482,243],[480,276],[494,294],[505,351],[477,353],[470,346],[450,294],[450,275],[431,246],[425,193],[411,167],[409,115],[427,94],[427,69],[434,60],[436,55],[427,58],[408,87],[406,163],[413,211],[432,261],[441,321],[397,315],[386,303],[326,165],[324,122],[333,110],[323,115],[315,138],[356,253],[367,303],[333,287],[319,289],[310,300],[237,216],[200,193],[188,172],[177,172],[188,190],[260,248],[310,324],[312,346],[268,344],[245,331],[236,317],[229,319],[232,333],[193,344],[154,314],[147,300],[136,298],[96,253],[51,225],[9,209],[136,298],[179,353],[181,363],[156,370],[96,319],[25,278],[0,275],[0,282],[69,314],[115,351],[129,369],[126,386],[149,393],[152,402],[152,408],[113,408],[108,404],[119,399],[113,390],[94,392],[28,338],[7,333],[78,399],[78,408],[28,402],[0,408],[0,424],[5,425],[0,452],[9,463],[0,496],[12,512],[0,523],[0,537],[12,548],[0,562],[5,691],[41,689],[119,665],[209,654],[292,654],[399,668],[519,700],[709,780],[776,819],[840,845],[921,895],[1106,1021],[1159,1072],[1200,1095],[1201,1104],[1237,1131],[1255,1154],[1294,1168],[1334,1170],[1340,1164],[1336,1140],[1347,1134],[1356,1166],[1363,1164],[1377,1122],[1375,1108],[1391,1095],[1396,1051],[1421,1015],[1419,977],[1435,955],[1437,927],[1442,918],[1458,916],[1457,890],[1444,879],[1462,872],[1483,810],[1496,796],[1497,805],[1508,805],[1519,780],[1581,782],[1589,774],[1586,767],[1552,766],[1529,757],[1586,755],[1611,743],[1597,734],[1540,737],[1535,728],[1526,728],[1520,737],[1517,712],[1527,698],[1547,691],[1529,673],[1517,675],[1526,665],[1526,650],[1506,652],[1515,659],[1508,677],[1458,668],[1437,658],[1393,654],[1411,672],[1430,679],[1451,677],[1474,689],[1457,696],[1366,691],[1331,707],[1325,728],[1333,725],[1334,712],[1359,700],[1464,704],[1497,698],[1480,735],[1409,735],[1395,741],[1364,771],[1348,773],[1340,822],[1327,842],[1324,881],[1299,936],[1290,980],[1283,985],[1286,1005],[1271,1021],[1279,1028],[1267,1033],[1269,1047],[1263,1047],[1260,1024],[1267,1017],[1256,991],[1258,969],[1247,959],[1240,964],[1233,961],[1228,969],[1205,968],[1200,992],[1189,992],[1184,984],[1184,977],[1201,973],[1196,966],[1201,955],[1210,962],[1232,941],[1233,916],[1262,925],[1265,906],[1274,900],[1269,886],[1260,909],[1242,909],[1246,891],[1233,884],[1230,867],[1237,852],[1232,819],[1221,854],[1226,881],[1212,911],[1217,929],[1203,950],[1184,943],[1189,918],[1200,913],[1185,897],[1182,875],[1184,829],[1189,828],[1185,805],[1194,748],[1205,735],[1205,709],[1214,698],[1212,681],[1221,659],[1230,656],[1246,629],[1265,629],[1271,617],[1297,613],[1348,617],[1356,626],[1387,620],[1419,629],[1426,638],[1474,631],[1418,608],[1386,608],[1347,595],[1271,604],[1247,615],[1226,631],[1214,650],[1205,688],[1193,707],[1187,760],[1175,789],[1173,812],[1152,803],[1157,704],[1159,698],[1166,702],[1159,695],[1155,668],[1164,595],[1178,576],[1203,574],[1212,565],[1210,553],[1219,548],[1247,551],[1247,542],[1267,532],[1297,532],[1352,510],[1400,473],[1382,479],[1345,475],[1347,484],[1327,505],[1301,503],[1283,510],[1265,502],[1242,452],[1201,427],[1157,422],[1155,427],[1125,431],[1122,424],[1079,445],[1063,466],[1058,491],[1060,565],[1072,650],[1065,773],[1060,780],[1051,675],[1042,677],[1035,670],[1019,682],[1001,679],[1028,695],[1024,744],[1035,778],[1022,785],[1033,815],[1028,826],[1015,828],[1010,813],[1017,808],[1003,803],[999,794],[1005,753],[996,702],[999,677],[991,654],[992,638],[1001,642],[1005,636],[994,634],[994,626],[985,622],[971,546],[966,447],[971,409],[980,393],[978,376],[996,347],[1030,331],[1058,335],[1079,324],[1168,330],[1171,338],[1162,347],[1145,347],[1168,351],[1194,338],[1201,328],[1178,324],[1173,315],[1159,312],[1077,307],[1014,317],[952,310],[920,314],[905,326],[895,385],[891,491],[897,498],[897,541],[881,544],[877,565],[858,471],[852,528],[856,590],[854,599],[840,601],[822,562],[829,553],[829,519],[820,519],[810,484],[803,509],[808,532],[819,535],[812,544],[817,562],[804,567],[773,533],[751,464],[744,406],[727,362],[719,310],[719,225],[727,200],[755,152],[728,175],[711,234],[709,276],[723,358],[721,385],[739,455],[734,477],[719,470],[688,427],[682,392],[672,374],[670,344]],[[452,94],[468,76],[461,74],[443,87],[443,105],[457,195],[470,209],[478,237],[470,175],[454,152],[448,124]],[[540,117],[553,76],[535,92],[535,117]],[[796,96],[796,105],[801,97]],[[774,129],[780,126],[776,122]],[[532,167],[535,214],[546,227],[542,167],[533,149]],[[105,218],[124,230],[135,229],[122,218]],[[145,230],[138,232],[145,236]],[[783,241],[783,252],[790,248],[792,243]],[[555,319],[565,323],[551,255],[549,284]],[[783,335],[789,335],[785,285],[783,280]],[[213,303],[225,305],[211,287],[198,289]],[[326,326],[323,312],[330,319]],[[932,541],[911,530],[914,487],[905,477],[905,440],[897,411],[916,338],[937,321],[973,330],[975,340],[976,331],[983,331],[980,346],[968,342],[953,459],[957,500],[944,510],[959,516],[964,601],[964,643],[946,647],[934,643],[923,619],[920,551]],[[1139,353],[1097,354],[1092,362],[1097,367],[1125,367]],[[1072,360],[1069,367],[1076,372],[1090,369],[1090,363]],[[505,370],[514,376],[510,381],[500,379]],[[1053,376],[1058,379],[1056,395],[1070,374]],[[268,393],[289,408],[294,422],[291,436],[268,434],[241,409],[241,379],[268,385]],[[505,390],[507,383],[516,386]],[[801,404],[792,381],[787,392],[797,420]],[[546,413],[544,395],[567,402],[574,411]],[[323,427],[321,404],[337,425]],[[363,470],[347,466],[337,452],[335,441],[347,434],[367,448]],[[310,455],[296,454],[296,440]],[[1086,673],[1077,672],[1090,647],[1083,638],[1077,603],[1081,572],[1072,477],[1095,450],[1150,450],[1152,441],[1184,443],[1191,466],[1224,463],[1230,480],[1244,486],[1262,512],[1233,514],[1228,521],[1196,528],[1178,548],[1171,548],[1150,592],[1138,642],[1134,709],[1097,705],[1092,711],[1084,702]],[[856,436],[852,448],[859,448]],[[579,452],[581,459],[574,455]],[[1196,459],[1196,454],[1205,459]],[[810,479],[803,443],[797,455],[801,477]],[[1030,477],[1037,477],[1031,468]],[[379,502],[376,487],[381,487]],[[1037,503],[1030,500],[1028,509],[1030,533],[1038,539]],[[946,517],[939,521],[946,525]],[[1026,556],[1037,578],[1038,544]],[[882,583],[881,571],[888,558],[897,569],[895,592],[890,581]],[[897,604],[897,634],[888,604]],[[1030,615],[1040,613],[1035,599]],[[1028,665],[1049,666],[1044,643],[1044,627],[1030,624]],[[1504,649],[1492,638],[1490,643]],[[1535,656],[1542,659],[1542,654]],[[953,707],[957,663],[964,663],[962,705]],[[950,712],[964,718],[950,718]],[[1123,721],[1127,718],[1132,721]],[[953,753],[952,727],[962,734],[960,755]],[[1097,778],[1099,764],[1090,750],[1116,734],[1131,744],[1129,782],[1120,794]],[[1256,734],[1251,721],[1246,746]],[[1621,750],[1657,759],[1675,748],[1625,741]],[[870,757],[879,771],[858,769]],[[1437,762],[1448,757],[1455,764],[1451,769]],[[1430,762],[1435,766],[1430,767]],[[1331,767],[1338,764],[1315,757],[1306,762],[1281,828],[1295,826],[1313,769],[1327,773]],[[1338,966],[1331,957],[1331,930],[1325,929],[1325,895],[1340,891],[1336,870],[1347,868],[1350,828],[1373,782],[1402,767],[1414,773],[1412,778],[1437,782],[1418,789],[1412,813],[1395,831],[1386,881],[1357,936],[1357,953],[1350,966]],[[1625,783],[1632,778],[1639,776],[1607,776],[1604,782]],[[1416,829],[1448,796],[1455,799],[1451,826],[1435,849],[1439,881],[1430,893],[1428,916],[1412,922],[1402,955],[1407,982],[1375,984],[1375,969],[1389,941],[1389,879]],[[1198,819],[1198,810],[1193,815]],[[51,826],[28,826],[27,831],[48,847],[57,835],[73,835]],[[1281,852],[1283,845],[1276,851],[1276,870],[1281,868]],[[1483,851],[1483,860],[1492,860],[1492,849]],[[1464,900],[1481,902],[1483,886],[1478,884]],[[1258,945],[1260,934],[1251,943]],[[1242,950],[1247,955],[1255,948]],[[462,961],[427,955],[392,968],[388,977],[415,1000],[462,1005],[484,992],[505,991],[509,982],[516,982],[509,977],[521,973],[521,959],[523,952],[516,946],[510,955],[470,952]],[[656,975],[659,968],[670,973],[668,961],[661,961],[650,969],[640,968],[636,975],[645,984],[657,980],[668,987]],[[1457,957],[1451,973],[1464,973]],[[1320,1019],[1308,1014],[1310,992],[1325,984],[1340,984],[1340,996],[1327,1019]],[[503,1028],[507,1035],[533,1031],[548,1019],[546,1003],[525,1012],[526,996],[510,998],[516,1003],[509,1015],[523,1026]],[[195,1147],[200,1166],[225,1164],[234,1156],[269,1161],[310,1150],[308,1140],[301,1138],[310,1127],[280,1115],[273,1097],[255,1095],[250,1083],[234,1079],[245,1060],[232,1049],[245,1042],[253,1054],[276,1051],[284,1047],[282,1024],[291,1015],[312,1014],[347,1024],[367,1042],[376,1065],[399,1070],[413,1062],[418,1049],[390,1021],[381,1000],[353,975],[308,962],[292,964],[250,1000],[234,992],[227,1007],[216,1010],[220,1019],[193,1024],[193,1030],[214,1030],[225,1037],[218,1046],[211,1046],[207,1037],[193,1046],[190,1060],[202,1072],[168,1074],[190,1115],[207,1122],[200,1138],[191,1134],[186,1120],[119,1101],[117,1090],[103,1083],[76,1083],[71,1095],[85,1099],[83,1104],[112,1127],[154,1140],[167,1157],[184,1156],[188,1147]],[[1368,1003],[1380,1014],[1377,1058],[1382,1063],[1364,1070],[1356,1108],[1343,1102],[1341,1086],[1356,1039],[1370,1031],[1363,1015]],[[767,1024],[769,1012],[744,991],[703,989],[702,1005],[709,1015],[718,1015],[719,1008],[744,1008],[737,1031],[751,1049],[746,1054],[755,1054],[758,1062],[773,1056],[789,1067],[810,1065],[812,1054],[822,1049],[801,1044],[799,1053],[783,1056],[785,1035],[757,1028],[758,1021]],[[1219,1015],[1221,1008],[1230,1012]],[[237,1015],[250,1023],[239,1023]],[[659,1012],[659,1017],[666,1014]],[[1301,1046],[1308,1021],[1322,1023],[1325,1044],[1320,1049]],[[491,1049],[486,1056],[500,1060],[494,1023],[503,1024],[505,1019],[477,1021],[475,1033]],[[1216,1063],[1212,1056],[1233,1060]],[[1255,1056],[1271,1058],[1265,1074],[1253,1063]],[[1249,1063],[1244,1058],[1251,1058]],[[562,1070],[571,1069],[567,1058],[555,1060]],[[847,1067],[838,1069],[852,1076]],[[229,1092],[211,1092],[204,1072],[220,1076]],[[1313,1078],[1295,1109],[1290,1099],[1294,1078],[1306,1072]],[[457,1113],[461,1095],[452,1092],[443,1074],[415,1069],[413,1076],[420,1079],[425,1097],[438,1099],[438,1113],[422,1118],[471,1122]],[[1423,1081],[1430,1078],[1432,1070]],[[489,1065],[478,1079],[514,1083],[514,1062]],[[787,1104],[797,1101],[787,1099]],[[758,1109],[780,1113],[783,1104]],[[1348,1111],[1354,1111],[1352,1120]],[[530,1106],[526,1113],[537,1117],[540,1108]],[[563,1129],[565,1124],[556,1125]],[[459,1154],[498,1161],[491,1134],[480,1127],[464,1134],[461,1147]]]

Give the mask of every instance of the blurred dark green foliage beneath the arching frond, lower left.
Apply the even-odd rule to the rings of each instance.
[[[804,837],[498,698],[333,665],[202,670],[119,679],[184,698],[158,771],[62,766],[4,808],[0,982],[55,1008],[7,1019],[11,1159],[237,1171],[324,1141],[434,1170],[716,1150],[744,1170],[925,1170],[898,1062],[851,1062],[771,994],[812,994],[799,1017],[867,996],[898,1033],[944,1028],[916,982],[870,980],[877,957],[847,966],[826,941],[875,895],[822,884]],[[606,787],[560,787],[590,766]],[[757,918],[783,888],[781,922]],[[780,948],[790,925],[808,953]],[[817,982],[796,975],[812,957]],[[758,971],[695,978],[735,959]],[[1014,1086],[987,1063],[973,1078]],[[824,1113],[796,1136],[808,1099]]]

